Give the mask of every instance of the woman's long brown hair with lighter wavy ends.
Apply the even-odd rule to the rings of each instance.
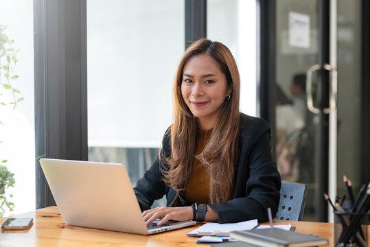
[[[226,75],[227,85],[231,88],[230,99],[225,99],[220,115],[213,127],[211,137],[202,153],[196,154],[196,117],[187,107],[181,94],[183,68],[193,56],[207,54],[218,64]],[[176,198],[181,197],[192,171],[194,158],[206,165],[210,177],[209,198],[211,203],[230,200],[233,196],[235,168],[238,164],[239,96],[240,78],[238,67],[231,51],[222,43],[205,38],[194,42],[181,58],[176,71],[173,87],[174,123],[170,131],[170,157],[165,158],[169,168],[162,170],[164,181],[176,191]],[[160,158],[163,158],[159,156]],[[174,202],[173,201],[173,202]],[[172,202],[172,203],[173,203]]]

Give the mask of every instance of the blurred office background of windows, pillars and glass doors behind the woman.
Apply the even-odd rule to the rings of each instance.
[[[343,174],[354,191],[370,180],[368,10],[366,0],[0,0],[25,98],[13,110],[0,89],[0,161],[16,180],[5,214],[55,203],[43,155],[123,163],[135,185],[171,124],[178,61],[206,36],[235,56],[240,111],[270,123],[281,178],[308,185],[303,220],[331,220],[323,192],[343,195]]]

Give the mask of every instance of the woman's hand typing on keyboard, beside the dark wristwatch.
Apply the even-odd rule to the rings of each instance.
[[[168,220],[186,221],[193,220],[193,209],[188,207],[157,207],[143,211],[145,224],[152,223],[154,220],[162,219],[158,225],[165,224]]]

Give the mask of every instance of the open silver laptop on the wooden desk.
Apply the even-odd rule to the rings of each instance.
[[[40,159],[66,224],[148,235],[191,226],[195,221],[146,226],[122,164]]]

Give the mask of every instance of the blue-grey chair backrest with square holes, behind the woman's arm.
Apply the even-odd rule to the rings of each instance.
[[[302,220],[307,185],[281,182],[280,203],[275,220]]]

